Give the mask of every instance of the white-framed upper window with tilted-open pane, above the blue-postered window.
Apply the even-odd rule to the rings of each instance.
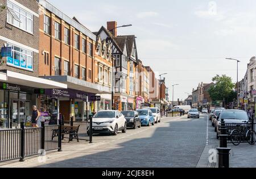
[[[33,15],[7,1],[7,23],[33,33]]]

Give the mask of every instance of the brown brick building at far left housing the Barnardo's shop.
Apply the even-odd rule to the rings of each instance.
[[[11,56],[2,57],[0,66],[0,128],[19,128],[31,124],[32,105],[40,106],[38,91],[67,88],[59,82],[39,78],[38,2],[0,1],[0,47]],[[39,92],[40,93],[40,92]]]

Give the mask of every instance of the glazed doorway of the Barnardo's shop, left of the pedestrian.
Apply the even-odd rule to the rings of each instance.
[[[20,128],[20,122],[27,122],[31,114],[31,101],[11,99],[11,128]]]

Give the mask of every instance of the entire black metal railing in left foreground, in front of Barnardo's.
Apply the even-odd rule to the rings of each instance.
[[[61,136],[52,139],[53,131],[61,130],[60,125],[39,128],[25,128],[20,123],[20,129],[0,130],[0,162],[39,155],[44,151],[58,149],[61,151]],[[60,134],[60,133],[59,133]]]

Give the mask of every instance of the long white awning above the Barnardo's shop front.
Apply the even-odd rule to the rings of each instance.
[[[0,81],[9,82],[10,84],[30,86],[32,88],[67,89],[67,85],[60,82],[29,76],[27,74],[11,72],[9,70],[6,70],[5,72],[0,72]]]

